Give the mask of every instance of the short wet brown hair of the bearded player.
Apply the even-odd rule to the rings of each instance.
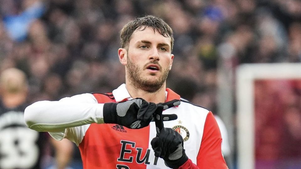
[[[144,28],[142,28],[143,26]],[[153,28],[154,31],[157,30],[164,37],[171,38],[172,51],[174,41],[172,28],[165,21],[163,21],[163,19],[152,15],[136,18],[124,25],[120,31],[121,47],[126,48],[128,46],[129,40],[135,30],[139,30],[141,28],[141,30],[144,30],[147,27]]]

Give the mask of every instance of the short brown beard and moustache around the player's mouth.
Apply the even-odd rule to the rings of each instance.
[[[148,64],[145,64],[143,66],[142,70],[146,69],[146,66],[149,64],[159,65],[159,63],[157,61],[152,61]],[[162,72],[162,75],[158,79],[151,80],[151,79],[143,78],[141,75],[142,70],[140,70],[138,65],[134,64],[129,59],[129,56],[128,56],[126,69],[127,69],[127,73],[129,74],[129,76],[128,76],[129,82],[132,83],[137,89],[144,90],[145,92],[148,92],[148,93],[155,93],[165,83],[168,73],[169,73],[169,68],[162,70],[160,65],[159,65],[159,67],[160,67],[160,72]],[[152,73],[151,75],[155,76],[156,74]]]

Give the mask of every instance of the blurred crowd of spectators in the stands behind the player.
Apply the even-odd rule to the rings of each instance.
[[[221,58],[301,61],[300,0],[1,0],[0,71],[26,73],[28,103],[110,92],[125,81],[119,31],[147,14],[174,31],[167,87],[215,113]]]

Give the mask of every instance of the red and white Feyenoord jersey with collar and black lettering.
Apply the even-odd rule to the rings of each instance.
[[[76,100],[77,98],[77,100]],[[108,103],[132,99],[121,85],[112,93],[82,94],[74,102]],[[163,111],[177,114],[177,120],[164,121],[164,127],[179,132],[189,161],[180,168],[226,169],[221,151],[221,134],[213,114],[180,98],[166,89],[166,101],[181,100],[181,105]],[[64,99],[62,99],[64,100]],[[89,111],[89,110],[87,110]],[[164,160],[154,156],[150,141],[156,137],[155,122],[142,129],[129,129],[116,124],[87,124],[67,128],[63,133],[50,132],[57,140],[67,138],[80,149],[84,168],[164,169]]]

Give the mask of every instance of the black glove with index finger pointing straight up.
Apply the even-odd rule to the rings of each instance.
[[[155,112],[157,136],[151,140],[150,144],[155,156],[163,158],[166,166],[179,168],[188,160],[183,147],[183,138],[177,131],[164,127],[164,117],[161,110],[163,107],[158,106]]]

